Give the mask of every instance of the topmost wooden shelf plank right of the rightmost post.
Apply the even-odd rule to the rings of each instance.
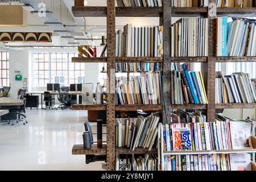
[[[232,16],[232,17],[247,17],[247,16],[255,16],[256,8],[255,7],[217,7],[217,15],[218,16]]]

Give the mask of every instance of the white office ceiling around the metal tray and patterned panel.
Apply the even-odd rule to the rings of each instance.
[[[8,0],[4,0],[10,2]],[[51,11],[52,16],[58,20],[67,30],[67,35],[72,36],[74,39],[61,38],[60,32],[54,32],[56,27],[46,22],[45,18],[40,18],[38,13],[31,13],[27,11],[27,27],[0,27],[0,31],[6,32],[53,32],[52,43],[6,43],[6,47],[12,46],[77,46],[78,44],[71,44],[77,42],[80,45],[100,46],[101,40],[81,40],[81,39],[101,39],[101,36],[106,35],[106,18],[76,18],[72,14],[72,6],[74,0],[18,0],[26,4],[44,2],[47,10]],[[1,1],[3,2],[3,1]],[[87,6],[106,6],[105,0],[87,0]],[[0,3],[1,5],[1,3]],[[51,17],[52,18],[52,17]],[[122,28],[127,23],[132,23],[133,26],[156,26],[158,25],[159,18],[117,18],[117,29]],[[60,27],[58,27],[60,28]],[[61,29],[62,30],[62,29]],[[77,40],[79,39],[79,40]],[[0,44],[1,47],[1,44]]]

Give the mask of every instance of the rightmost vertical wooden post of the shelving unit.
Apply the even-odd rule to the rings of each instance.
[[[209,0],[210,3],[215,3],[215,0]],[[216,6],[215,6],[216,7]],[[215,120],[215,72],[216,72],[216,55],[215,55],[215,40],[216,40],[216,16],[212,16],[210,11],[214,11],[211,7],[208,7],[208,61],[207,61],[207,116],[208,121]]]

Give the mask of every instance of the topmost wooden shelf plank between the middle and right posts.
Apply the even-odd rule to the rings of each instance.
[[[172,17],[189,17],[207,15],[207,7],[172,7]]]

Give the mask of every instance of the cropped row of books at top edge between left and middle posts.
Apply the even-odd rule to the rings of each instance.
[[[162,7],[163,0],[116,0],[118,7]]]

